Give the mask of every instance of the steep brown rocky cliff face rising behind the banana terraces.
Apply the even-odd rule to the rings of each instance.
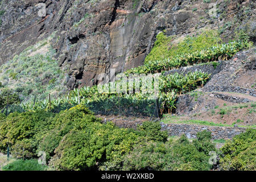
[[[219,28],[229,40],[237,26],[249,26],[255,40],[250,0],[0,0],[0,12],[0,64],[55,32],[51,45],[68,70],[69,89],[98,84],[98,75],[110,69],[142,65],[163,30],[177,41],[201,28]]]

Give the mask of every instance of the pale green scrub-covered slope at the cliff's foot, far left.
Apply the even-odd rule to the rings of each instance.
[[[50,40],[51,37],[26,48],[0,67],[2,85],[13,89],[23,102],[44,100],[49,93],[57,97],[67,91],[64,72],[53,59],[55,50],[49,46]]]

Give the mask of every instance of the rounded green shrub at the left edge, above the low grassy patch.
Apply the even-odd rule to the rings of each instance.
[[[38,111],[11,113],[3,118],[0,122],[0,151],[6,152],[7,146],[10,145],[13,156],[18,158],[36,156],[41,135],[49,129],[53,115],[46,111]]]

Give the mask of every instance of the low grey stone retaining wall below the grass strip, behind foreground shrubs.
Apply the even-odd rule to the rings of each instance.
[[[208,130],[212,133],[212,139],[232,139],[234,136],[246,131],[243,127],[219,127],[188,124],[161,124],[161,130],[167,130],[169,136],[187,135],[188,138],[196,138],[196,133]]]

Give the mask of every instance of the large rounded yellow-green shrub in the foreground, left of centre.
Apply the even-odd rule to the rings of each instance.
[[[61,140],[51,164],[61,170],[120,169],[123,157],[131,151],[138,135],[112,123],[87,123]]]

